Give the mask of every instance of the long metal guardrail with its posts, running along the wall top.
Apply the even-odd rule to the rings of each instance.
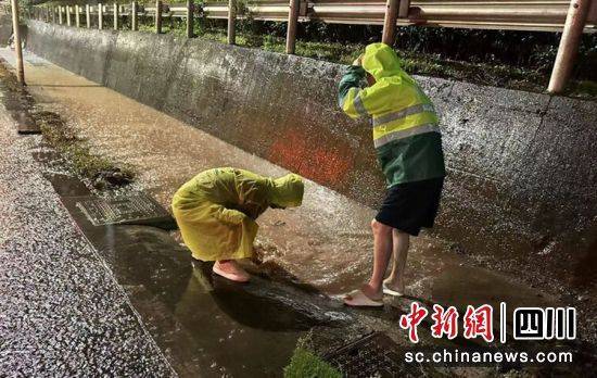
[[[130,5],[38,5],[27,10],[29,17],[91,27],[91,20],[98,28],[106,28],[104,16],[113,21],[115,29],[122,28],[120,21],[129,17],[131,29],[137,29],[139,16],[153,17],[155,32],[162,33],[162,20],[186,18],[187,35],[192,35],[193,18],[228,20],[228,42],[234,43],[237,18],[288,22],[287,53],[294,53],[296,24],[321,21],[336,24],[384,25],[382,40],[392,43],[396,26],[443,26],[481,29],[563,32],[558,58],[551,75],[549,91],[559,92],[570,76],[580,36],[597,32],[597,0],[252,0],[237,3],[237,0],[206,2],[194,7],[191,0],[185,4],[164,4],[155,1],[154,7]]]

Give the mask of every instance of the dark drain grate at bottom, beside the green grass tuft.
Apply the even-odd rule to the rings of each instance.
[[[397,345],[382,332],[369,333],[328,353],[325,360],[345,377],[404,376]]]

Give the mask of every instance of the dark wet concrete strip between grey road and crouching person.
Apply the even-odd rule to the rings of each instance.
[[[247,285],[214,277],[211,264],[192,261],[164,229],[94,226],[77,205],[89,189],[68,175],[48,179],[180,376],[279,376],[298,337],[351,319],[317,293],[258,277]]]

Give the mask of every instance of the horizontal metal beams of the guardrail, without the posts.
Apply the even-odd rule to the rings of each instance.
[[[444,26],[480,29],[561,32],[569,0],[493,0],[493,1],[410,1],[408,15],[398,26]],[[203,12],[209,18],[227,18],[228,3],[206,2]],[[252,1],[246,10],[254,20],[285,21],[287,1]],[[383,25],[386,2],[379,0],[301,0],[298,21]],[[597,2],[587,17],[585,32],[597,32]]]

